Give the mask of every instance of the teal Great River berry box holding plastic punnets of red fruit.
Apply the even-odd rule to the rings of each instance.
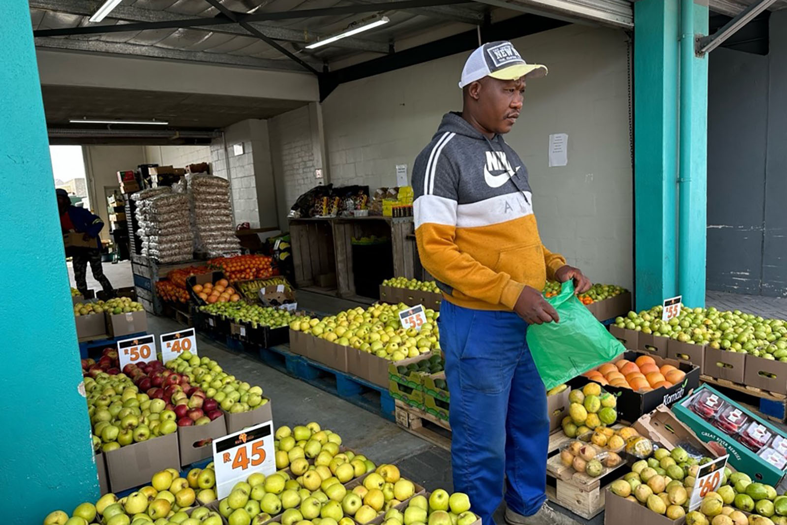
[[[745,407],[738,405],[735,401],[732,401],[729,397],[721,394],[718,390],[708,386],[708,384],[700,386],[694,391],[694,394],[699,394],[702,392],[702,390],[708,390],[718,396],[719,399],[726,401],[730,405],[734,405],[746,416],[763,425],[763,427],[766,427],[772,434],[781,436],[785,435],[783,432],[774,427],[774,425],[768,423],[766,420],[763,420],[754,412],[751,412],[748,409],[745,409]],[[675,417],[691,428],[701,441],[708,443],[711,449],[719,449],[719,453],[730,454],[727,462],[733,468],[735,468],[735,470],[745,472],[746,474],[752,476],[752,479],[756,479],[759,482],[766,483],[767,485],[777,486],[782,477],[784,477],[785,473],[778,470],[778,468],[775,468],[774,465],[763,460],[763,458],[757,456],[755,452],[752,452],[752,450],[748,449],[746,446],[737,442],[737,438],[726,434],[721,429],[713,426],[709,421],[704,420],[702,417],[698,416],[695,412],[693,412],[692,409],[689,408],[690,401],[692,401],[692,399],[693,396],[687,397],[681,403],[678,403],[672,407],[672,412],[674,412]]]

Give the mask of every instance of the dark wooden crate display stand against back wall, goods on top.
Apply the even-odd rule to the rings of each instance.
[[[290,219],[295,284],[341,298],[357,296],[353,271],[354,238],[387,237],[393,276],[415,277],[416,242],[412,217],[330,217]],[[374,261],[369,261],[374,264]]]

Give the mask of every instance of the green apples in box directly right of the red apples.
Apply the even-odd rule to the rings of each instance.
[[[205,396],[215,400],[224,412],[249,412],[268,403],[262,395],[261,386],[251,386],[236,379],[235,375],[227,374],[209,357],[198,357],[186,351],[176,359],[168,360],[164,366],[186,375],[191,385],[199,386]]]

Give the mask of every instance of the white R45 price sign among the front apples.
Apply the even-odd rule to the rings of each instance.
[[[254,472],[271,475],[276,471],[273,422],[266,421],[226,438],[213,440],[216,468],[216,495],[229,496],[232,487]]]

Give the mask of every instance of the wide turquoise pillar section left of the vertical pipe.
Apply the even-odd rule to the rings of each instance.
[[[677,290],[678,0],[634,2],[637,310]]]

